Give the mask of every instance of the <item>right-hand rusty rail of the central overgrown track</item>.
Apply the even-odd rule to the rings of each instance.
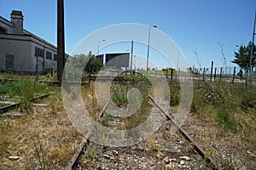
[[[156,103],[156,102],[154,101],[154,99],[152,98],[152,96],[148,95],[148,97],[149,97],[149,99],[151,99],[151,100],[154,102],[154,105],[156,105],[156,106],[160,109],[160,111],[165,114],[166,118],[167,118],[168,120],[171,120],[171,121],[172,121],[172,123],[173,123],[173,124],[178,128],[178,130],[183,134],[183,137],[184,137],[185,139],[188,139],[189,142],[191,142],[191,143],[194,145],[194,148],[195,148],[195,150],[197,151],[197,153],[198,153],[199,155],[201,155],[201,156],[203,157],[203,159],[206,159],[206,160],[207,160],[207,162],[212,166],[212,169],[222,170],[222,168],[218,166],[217,162],[214,161],[211,156],[206,156],[206,150],[204,150],[203,148],[201,148],[201,146],[200,146],[197,142],[195,142],[195,140],[189,135],[189,133],[186,133],[186,131],[183,129],[183,127],[180,127],[180,126],[177,124],[177,122],[175,122],[175,121],[172,119],[172,117],[171,117],[168,113],[166,113],[166,111],[164,111],[164,110],[160,107],[160,105],[159,105],[158,103]]]

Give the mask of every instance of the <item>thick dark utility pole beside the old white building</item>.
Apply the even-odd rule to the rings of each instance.
[[[64,0],[57,1],[57,76],[61,84],[65,65]]]

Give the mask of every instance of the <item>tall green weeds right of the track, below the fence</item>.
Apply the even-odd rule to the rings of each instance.
[[[256,88],[243,83],[195,82],[191,111],[212,115],[226,130],[236,131],[236,113],[256,109]]]

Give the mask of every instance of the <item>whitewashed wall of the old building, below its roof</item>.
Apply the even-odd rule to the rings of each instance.
[[[0,34],[0,70],[6,71],[6,55],[14,55],[14,71],[34,72],[36,71],[37,57],[35,48],[42,48],[43,57],[38,57],[38,71],[49,71],[56,68],[54,54],[56,48],[49,43],[44,43],[37,37]],[[46,59],[47,51],[52,54],[52,59]]]

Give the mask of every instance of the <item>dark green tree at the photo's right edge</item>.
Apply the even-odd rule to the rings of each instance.
[[[241,45],[238,49],[238,52],[235,52],[235,58],[232,63],[236,63],[236,65],[239,65],[243,70],[247,70],[249,68],[250,64],[250,57],[251,57],[251,48],[252,48],[252,42],[249,42],[247,47],[245,45]],[[255,45],[253,44],[253,63],[252,65],[255,66]]]

